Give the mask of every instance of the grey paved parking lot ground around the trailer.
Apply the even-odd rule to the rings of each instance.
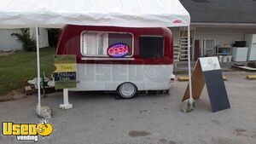
[[[256,81],[245,72],[225,72],[231,109],[211,112],[207,91],[196,101],[194,112],[181,112],[186,82],[177,82],[170,95],[140,95],[114,100],[113,94],[72,93],[73,109],[62,111],[61,93],[43,100],[53,108],[49,120],[55,131],[38,143],[178,144],[256,143]],[[0,121],[38,123],[36,96],[0,103]],[[22,143],[15,136],[0,136],[0,143]],[[24,142],[25,143],[25,142]]]

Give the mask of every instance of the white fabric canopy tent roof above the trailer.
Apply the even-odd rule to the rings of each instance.
[[[0,28],[189,26],[178,0],[0,0]]]

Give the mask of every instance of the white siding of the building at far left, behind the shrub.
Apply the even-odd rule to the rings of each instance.
[[[0,51],[10,51],[22,49],[22,43],[12,33],[20,33],[20,29],[0,30]]]

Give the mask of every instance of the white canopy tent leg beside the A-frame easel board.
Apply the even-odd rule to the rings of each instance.
[[[189,99],[193,99],[192,96],[192,84],[191,84],[191,66],[190,66],[190,26],[188,26],[188,66],[189,66]]]

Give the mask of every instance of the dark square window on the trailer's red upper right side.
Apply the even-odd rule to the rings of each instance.
[[[139,55],[142,58],[163,58],[164,37],[163,36],[141,36],[139,38]]]

